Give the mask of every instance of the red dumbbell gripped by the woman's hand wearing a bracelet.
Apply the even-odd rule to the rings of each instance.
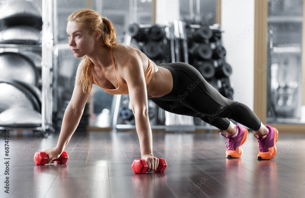
[[[164,172],[167,167],[167,163],[163,158],[158,159],[159,164],[155,172]],[[135,159],[131,165],[131,168],[134,173],[144,174],[146,173],[148,166],[144,159]]]

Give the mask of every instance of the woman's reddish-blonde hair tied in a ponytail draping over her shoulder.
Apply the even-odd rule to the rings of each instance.
[[[116,30],[111,21],[107,18],[102,17],[99,13],[92,9],[80,9],[70,14],[67,18],[67,22],[76,22],[79,26],[86,28],[91,35],[96,30],[101,31],[100,42],[101,45],[106,46],[109,49],[113,49],[113,46],[120,45],[116,41]],[[81,61],[84,60],[83,73],[81,79],[76,83],[80,83],[83,86],[83,92],[89,93],[92,88],[91,84],[91,70],[92,62],[90,58],[85,55]]]

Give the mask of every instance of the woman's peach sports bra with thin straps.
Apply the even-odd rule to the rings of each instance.
[[[115,66],[114,66],[114,59],[113,59],[113,54],[112,54],[112,50],[111,49],[110,49],[110,55],[111,55],[111,60],[112,60],[112,65],[113,65],[114,73],[117,76],[117,70],[115,69]],[[101,87],[99,85],[99,83],[96,82],[96,80],[94,79],[93,68],[91,68],[91,70],[92,70],[92,77],[93,77],[94,84],[96,84],[97,86]],[[154,72],[155,72],[155,66],[152,63],[152,61],[148,58],[148,67],[147,67],[146,71],[144,71],[146,86],[148,85],[148,83],[152,79],[152,76],[153,76]],[[105,89],[103,87],[101,87],[101,88],[104,91],[106,91],[107,93],[109,93],[109,94],[128,95],[129,92],[128,92],[127,83],[121,82],[118,77],[117,77],[117,82],[118,82],[119,86],[116,89]]]

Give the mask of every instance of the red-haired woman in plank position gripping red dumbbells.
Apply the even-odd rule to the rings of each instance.
[[[166,111],[199,117],[227,133],[224,136],[228,139],[228,158],[242,155],[240,146],[248,135],[247,129],[229,119],[255,131],[260,145],[258,159],[275,156],[278,131],[263,125],[246,105],[223,97],[191,65],[156,65],[140,50],[118,44],[113,24],[91,9],[72,13],[67,22],[71,50],[75,57],[83,58],[63,117],[58,144],[44,150],[49,157],[47,163],[54,163],[52,160],[58,158],[68,144],[81,119],[93,83],[110,94],[129,94],[141,156],[148,164],[148,172],[156,170],[158,159],[152,154],[147,97]]]

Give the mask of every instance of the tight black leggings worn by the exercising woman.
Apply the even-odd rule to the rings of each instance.
[[[199,117],[221,130],[229,127],[229,119],[252,130],[260,128],[260,119],[249,107],[222,96],[192,65],[182,62],[158,65],[168,69],[174,81],[169,94],[151,98],[160,108],[175,114]]]

